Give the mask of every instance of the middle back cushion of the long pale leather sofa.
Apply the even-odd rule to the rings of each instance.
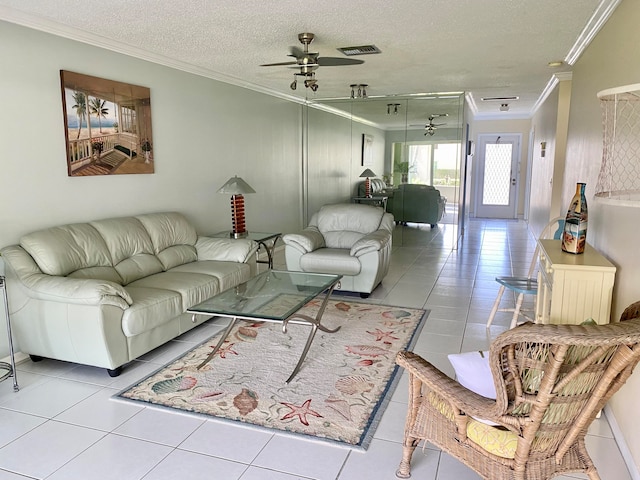
[[[109,218],[91,225],[104,239],[123,285],[164,270],[154,255],[151,237],[137,218]]]

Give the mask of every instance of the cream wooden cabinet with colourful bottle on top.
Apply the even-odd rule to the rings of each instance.
[[[536,323],[609,323],[616,267],[591,245],[562,251],[560,240],[540,240]]]

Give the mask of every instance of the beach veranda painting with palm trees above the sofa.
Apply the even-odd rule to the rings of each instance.
[[[151,91],[60,71],[70,177],[153,173]]]

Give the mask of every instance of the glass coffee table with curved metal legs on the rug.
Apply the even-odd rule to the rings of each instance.
[[[287,333],[289,324],[310,326],[307,343],[302,350],[298,364],[286,381],[289,383],[300,370],[316,331],[320,329],[323,332],[335,333],[340,330],[340,327],[329,329],[322,325],[321,321],[331,292],[341,278],[342,275],[267,270],[246,283],[214,295],[187,309],[194,322],[196,315],[232,319],[222,333],[218,344],[198,365],[198,369],[211,361],[240,320],[281,323],[282,333]],[[322,292],[326,292],[326,295],[315,317],[298,313],[302,307]]]

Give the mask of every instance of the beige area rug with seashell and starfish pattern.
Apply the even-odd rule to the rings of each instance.
[[[322,299],[300,313],[315,316]],[[428,311],[330,300],[297,376],[286,384],[309,328],[241,322],[214,358],[214,336],[115,398],[366,448]]]

